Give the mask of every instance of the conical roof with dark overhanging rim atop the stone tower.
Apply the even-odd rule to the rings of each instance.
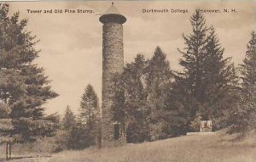
[[[100,17],[100,21],[102,22],[102,24],[106,24],[108,22],[124,24],[126,18],[124,15],[120,14],[119,10],[112,3],[111,7],[108,8],[107,12],[105,14],[102,14],[102,16]]]

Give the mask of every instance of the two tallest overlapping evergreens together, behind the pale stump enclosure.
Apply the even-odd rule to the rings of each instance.
[[[200,115],[202,120],[213,120],[217,129],[224,127],[224,114],[236,103],[236,68],[230,58],[224,59],[213,27],[208,28],[200,10],[190,19],[193,31],[183,36],[186,47],[179,64],[183,72],[177,74],[177,87],[182,88],[184,98],[192,99],[189,110],[191,120]],[[229,103],[229,104],[227,104]],[[184,105],[184,104],[183,104]]]

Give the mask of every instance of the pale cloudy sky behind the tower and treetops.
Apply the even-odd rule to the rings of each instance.
[[[102,97],[102,24],[99,16],[111,6],[111,1],[77,2],[12,2],[9,14],[20,12],[27,19],[26,31],[32,31],[40,40],[40,49],[34,64],[44,67],[52,89],[60,96],[44,105],[46,113],[62,115],[67,107],[78,113],[84,88],[91,84]],[[182,70],[177,48],[184,47],[183,34],[191,33],[190,16],[195,8],[219,9],[220,13],[205,13],[208,26],[213,26],[224,47],[224,57],[232,57],[241,64],[246,53],[250,33],[256,30],[256,1],[116,1],[114,6],[125,15],[124,55],[125,63],[131,62],[137,53],[150,59],[155,47],[166,53],[172,70]],[[30,10],[42,10],[31,13]],[[53,13],[44,14],[44,10]],[[65,9],[75,13],[64,13]],[[77,10],[93,13],[78,13]],[[143,13],[143,9],[168,9],[167,13]],[[188,13],[172,13],[172,9],[188,10]],[[224,13],[228,9],[229,13]],[[231,12],[235,9],[236,12]],[[55,13],[56,10],[56,13]],[[62,13],[61,13],[62,10]]]

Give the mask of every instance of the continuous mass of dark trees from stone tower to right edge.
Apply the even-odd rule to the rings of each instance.
[[[185,47],[178,49],[182,71],[171,70],[156,47],[151,59],[138,54],[116,76],[113,120],[126,123],[128,142],[199,131],[201,120],[212,120],[213,131],[255,126],[255,33],[244,64],[236,68],[232,58],[224,58],[224,47],[200,10],[190,23],[192,33],[183,35]]]

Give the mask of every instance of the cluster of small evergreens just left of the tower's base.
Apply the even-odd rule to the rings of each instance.
[[[67,106],[61,129],[57,132],[55,151],[83,149],[96,145],[100,141],[100,125],[98,98],[89,84],[81,98],[79,115],[74,115]]]

